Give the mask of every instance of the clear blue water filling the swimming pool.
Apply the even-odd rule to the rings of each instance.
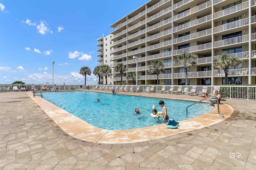
[[[95,103],[98,98],[100,102]],[[197,117],[214,108],[206,103],[198,103],[189,107],[186,117],[186,107],[194,102],[85,91],[44,92],[44,99],[96,127],[108,130],[135,129],[166,123],[149,116],[153,104],[158,111],[162,111],[158,104],[160,100],[164,100],[169,118],[176,121]],[[136,107],[141,114],[134,114]]]

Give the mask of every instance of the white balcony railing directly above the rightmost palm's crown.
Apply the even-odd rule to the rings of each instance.
[[[220,41],[213,42],[213,47],[222,47],[226,45],[232,45],[232,44],[238,44],[238,43],[244,43],[249,41],[249,35],[242,35],[239,37],[224,39]]]

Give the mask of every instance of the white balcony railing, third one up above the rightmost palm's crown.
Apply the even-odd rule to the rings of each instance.
[[[225,9],[225,10],[221,10],[219,12],[215,12],[213,14],[213,19],[220,18],[222,16],[226,16],[226,15],[238,12],[238,11],[244,10],[246,8],[249,8],[249,2],[248,1],[243,2],[242,4],[238,4],[236,6],[232,6],[230,8]]]

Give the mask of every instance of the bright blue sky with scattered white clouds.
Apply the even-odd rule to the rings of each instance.
[[[52,84],[52,61],[54,84],[84,84],[80,68],[99,63],[96,39],[146,2],[0,0],[0,84]],[[86,76],[86,84],[97,81]]]

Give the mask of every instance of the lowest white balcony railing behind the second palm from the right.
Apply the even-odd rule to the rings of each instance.
[[[188,72],[188,78],[210,78],[212,71]],[[173,78],[186,78],[185,72],[174,73]]]

